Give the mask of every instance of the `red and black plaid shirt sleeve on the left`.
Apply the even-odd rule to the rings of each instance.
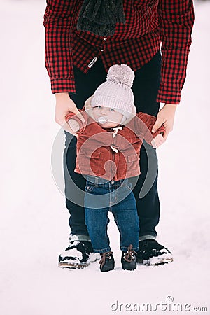
[[[47,0],[45,27],[45,66],[52,93],[75,92],[71,52],[71,25],[77,1]]]

